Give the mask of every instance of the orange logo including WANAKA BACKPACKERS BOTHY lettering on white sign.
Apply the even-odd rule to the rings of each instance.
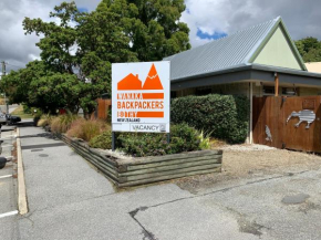
[[[142,118],[142,117],[164,117],[164,90],[157,70],[153,64],[143,85],[138,75],[130,73],[117,83],[117,117],[120,118]],[[143,91],[156,93],[142,93]],[[131,91],[131,92],[125,92]],[[132,91],[139,91],[133,93]]]

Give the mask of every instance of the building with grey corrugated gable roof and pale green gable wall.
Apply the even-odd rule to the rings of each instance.
[[[242,94],[252,108],[253,96],[321,95],[321,74],[308,72],[280,17],[164,61],[170,61],[172,97]]]

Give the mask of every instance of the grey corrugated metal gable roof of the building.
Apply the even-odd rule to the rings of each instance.
[[[300,69],[302,72],[307,71],[282,19],[278,17],[201,46],[165,58],[164,61],[170,61],[170,80],[210,75],[224,70],[251,65],[279,28]]]

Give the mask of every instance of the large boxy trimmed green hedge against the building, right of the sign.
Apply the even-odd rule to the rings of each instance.
[[[173,123],[187,123],[231,144],[244,143],[248,134],[249,100],[246,96],[209,94],[173,100]]]

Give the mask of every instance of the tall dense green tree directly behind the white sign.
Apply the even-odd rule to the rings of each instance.
[[[85,102],[95,93],[104,90],[111,95],[111,65],[117,62],[137,61],[136,54],[130,50],[130,38],[120,25],[122,17],[101,2],[91,13],[77,18],[76,27],[80,46],[81,74],[91,81],[93,87],[87,90]]]

